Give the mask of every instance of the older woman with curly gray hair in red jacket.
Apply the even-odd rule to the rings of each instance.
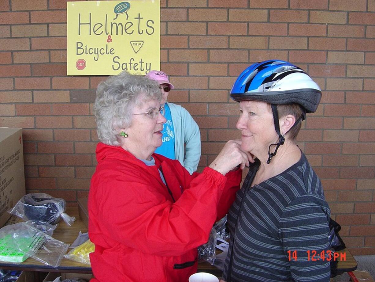
[[[242,168],[253,161],[240,141],[229,141],[200,174],[154,154],[165,122],[160,100],[157,82],[127,72],[98,86],[92,281],[187,281],[197,269],[196,247],[228,211]]]

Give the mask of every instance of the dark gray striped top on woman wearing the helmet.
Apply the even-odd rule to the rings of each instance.
[[[283,173],[250,188],[259,164],[250,168],[228,212],[231,240],[224,279],[329,281],[330,208],[320,179],[302,153]]]

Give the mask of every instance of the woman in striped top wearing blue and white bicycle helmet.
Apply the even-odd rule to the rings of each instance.
[[[330,208],[296,143],[321,98],[299,67],[272,60],[246,68],[231,89],[239,102],[242,149],[256,158],[228,213],[223,279],[329,281]]]

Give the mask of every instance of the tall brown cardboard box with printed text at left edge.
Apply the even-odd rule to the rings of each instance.
[[[22,129],[0,127],[0,227],[25,195]]]

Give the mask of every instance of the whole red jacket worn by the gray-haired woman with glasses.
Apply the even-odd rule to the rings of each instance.
[[[152,156],[156,165],[147,166],[121,147],[96,148],[89,193],[92,282],[186,282],[197,270],[197,247],[235,199],[241,170],[222,176],[205,168],[190,176],[177,160]]]

